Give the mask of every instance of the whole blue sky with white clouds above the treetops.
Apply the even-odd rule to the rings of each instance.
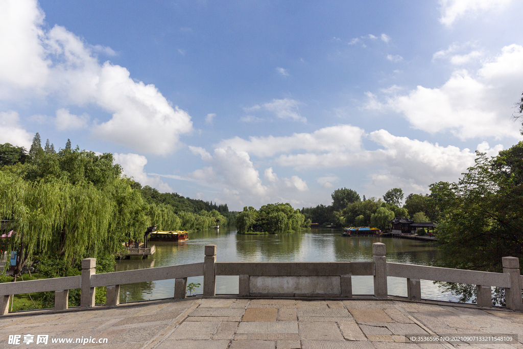
[[[521,139],[516,0],[0,0],[0,143],[231,209],[456,181]]]

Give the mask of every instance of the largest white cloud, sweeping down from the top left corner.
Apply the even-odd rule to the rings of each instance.
[[[85,43],[64,27],[44,29],[33,0],[0,3],[0,96],[58,96],[64,104],[94,104],[112,114],[93,135],[155,154],[168,154],[180,134],[192,130],[187,112],[173,107],[154,85],[134,81],[129,71],[100,63],[108,48]],[[155,142],[151,142],[154,139]]]

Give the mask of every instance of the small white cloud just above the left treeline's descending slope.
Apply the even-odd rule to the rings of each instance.
[[[147,158],[143,155],[138,154],[113,154],[115,163],[122,166],[123,174],[128,177],[133,177],[134,181],[137,181],[142,186],[149,185],[153,188],[158,189],[160,192],[167,193],[173,192],[167,183],[162,182],[160,176],[147,175],[144,168],[147,164]]]

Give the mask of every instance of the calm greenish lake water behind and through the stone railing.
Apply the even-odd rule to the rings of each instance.
[[[234,228],[189,233],[185,242],[151,242],[156,253],[146,259],[121,260],[117,271],[203,262],[204,245],[217,245],[218,262],[365,262],[372,261],[372,244],[386,246],[388,262],[434,265],[438,258],[435,243],[408,239],[342,237],[341,230],[311,229],[302,232],[269,235],[237,234]],[[134,258],[134,257],[133,257]],[[203,276],[188,278],[187,284],[200,283]],[[353,276],[354,295],[372,295],[372,276]],[[457,301],[429,280],[422,280],[422,297]],[[201,294],[203,286],[196,290]],[[392,296],[407,296],[406,279],[388,277]],[[238,294],[237,276],[218,276],[217,294]],[[174,280],[120,286],[120,301],[152,300],[174,295]]]

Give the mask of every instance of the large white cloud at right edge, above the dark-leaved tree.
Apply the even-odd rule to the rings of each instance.
[[[368,109],[401,113],[411,125],[430,133],[450,131],[462,140],[518,138],[509,116],[523,80],[523,47],[512,44],[482,63],[479,70],[456,70],[441,87],[417,86],[407,94],[367,94]]]

